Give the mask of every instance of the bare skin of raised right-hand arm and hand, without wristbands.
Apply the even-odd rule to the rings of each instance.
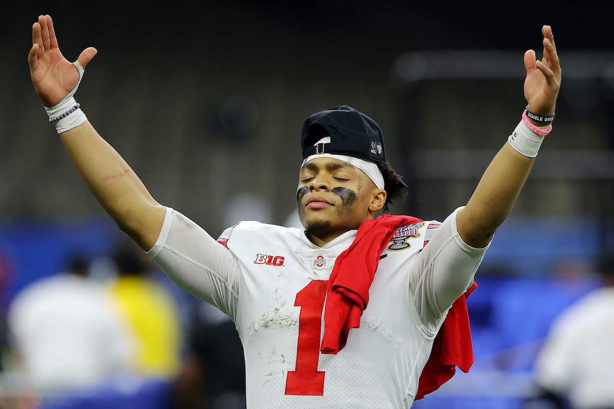
[[[550,26],[542,27],[543,59],[536,60],[534,50],[524,53],[527,77],[524,97],[529,111],[548,117],[554,114],[556,97],[561,86],[561,66]],[[543,127],[550,122],[536,122]],[[511,211],[524,182],[529,176],[534,157],[527,157],[506,142],[494,157],[465,208],[457,213],[456,225],[462,240],[472,247],[485,247],[495,230]]]

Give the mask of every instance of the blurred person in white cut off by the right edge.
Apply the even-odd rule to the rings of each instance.
[[[597,265],[603,286],[553,322],[535,362],[529,408],[614,408],[614,252]]]

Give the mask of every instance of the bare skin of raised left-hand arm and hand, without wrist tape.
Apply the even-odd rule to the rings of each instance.
[[[34,89],[47,107],[60,103],[79,84],[79,72],[60,53],[49,15],[32,27],[33,45],[28,64]],[[86,66],[96,55],[88,48],[79,55]],[[124,232],[142,249],[155,244],[165,217],[165,207],[149,194],[123,158],[89,121],[61,133],[72,162],[93,195]]]

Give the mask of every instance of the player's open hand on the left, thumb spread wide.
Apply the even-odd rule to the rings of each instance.
[[[96,49],[89,47],[79,55],[79,63],[85,68],[95,55]],[[47,107],[59,103],[79,84],[79,71],[60,52],[49,15],[39,16],[32,26],[28,64],[34,89]]]

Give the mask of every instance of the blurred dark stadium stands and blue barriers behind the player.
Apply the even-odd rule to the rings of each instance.
[[[550,323],[597,285],[593,262],[614,248],[614,37],[594,14],[546,3],[413,3],[7,6],[3,310],[69,254],[104,257],[123,235],[72,168],[29,80],[37,15],[52,15],[69,60],[98,49],[77,95],[88,119],[153,197],[212,236],[241,219],[293,222],[301,125],[338,104],[383,128],[389,160],[410,182],[394,211],[445,218],[516,126],[523,53],[540,49],[540,27],[550,24],[564,75],[557,119],[478,271],[469,299],[476,364],[415,405],[520,407]]]

